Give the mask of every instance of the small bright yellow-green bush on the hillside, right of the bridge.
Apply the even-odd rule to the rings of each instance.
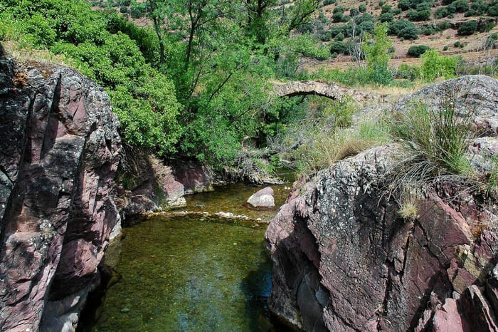
[[[442,56],[438,51],[429,50],[422,56],[422,76],[425,81],[434,81],[435,78],[445,79],[455,77],[455,68],[458,59],[453,56]]]

